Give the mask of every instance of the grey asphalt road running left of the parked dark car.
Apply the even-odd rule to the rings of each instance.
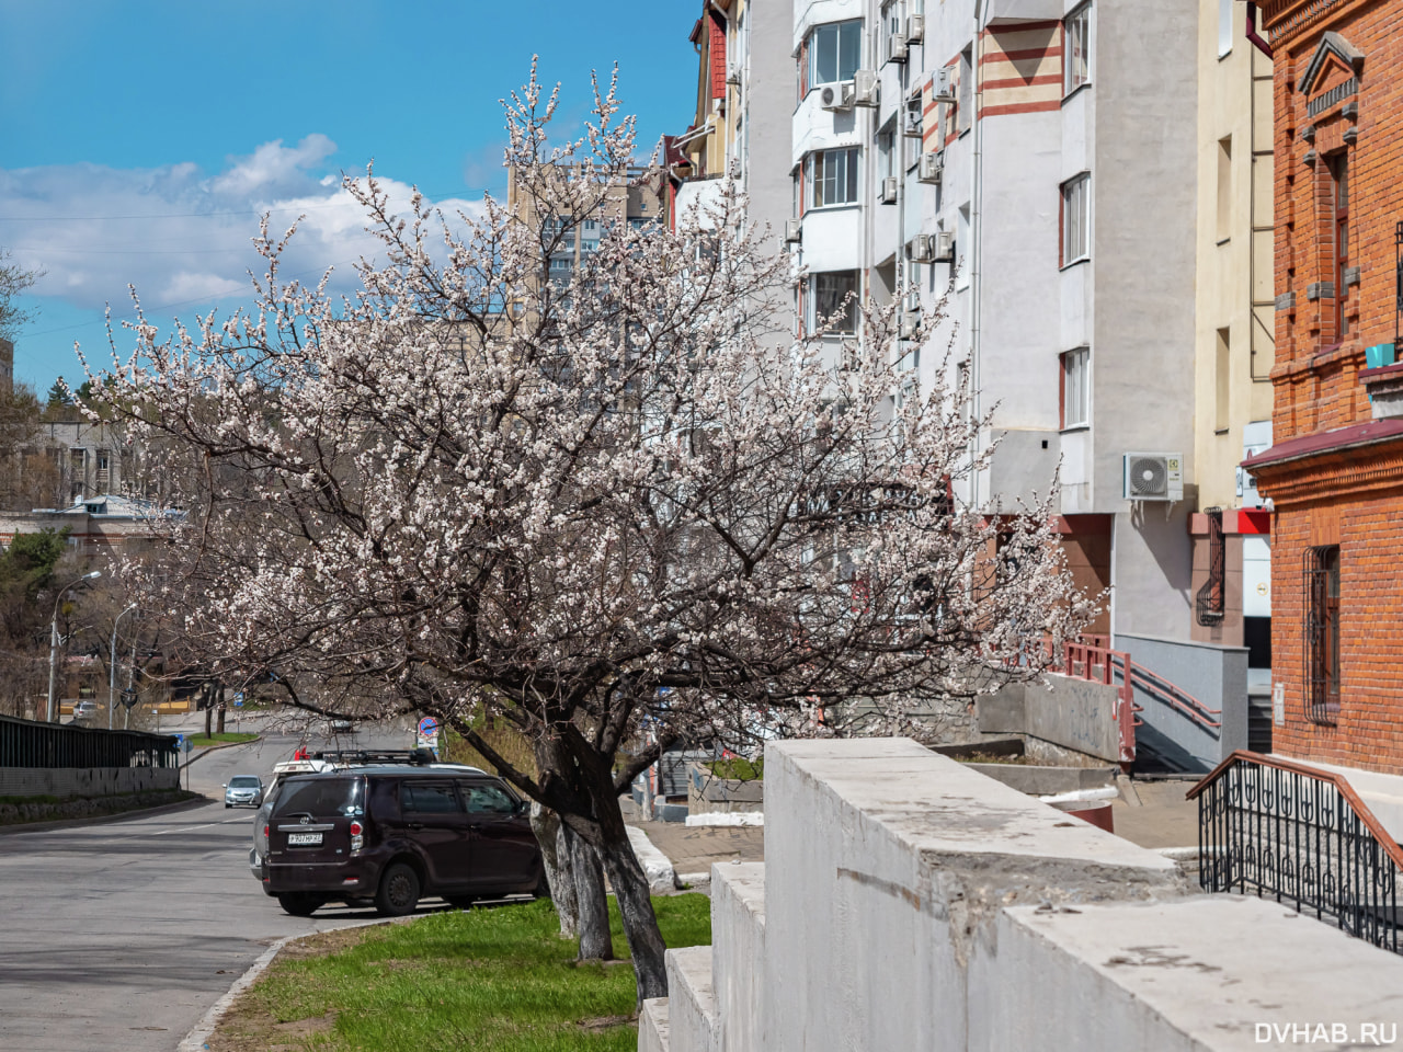
[[[362,732],[342,745],[410,738]],[[212,798],[198,808],[0,836],[0,1049],[170,1052],[272,941],[375,917],[289,917],[248,872],[253,812],[226,809],[220,784],[267,781],[296,746],[269,734],[196,759],[191,787]]]

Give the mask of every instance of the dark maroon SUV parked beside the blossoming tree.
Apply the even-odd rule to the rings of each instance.
[[[297,917],[327,902],[412,913],[421,896],[546,893],[528,805],[499,778],[434,767],[289,776],[268,819],[268,895]]]

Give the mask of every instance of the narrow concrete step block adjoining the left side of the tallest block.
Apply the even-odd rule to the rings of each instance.
[[[717,1052],[765,1049],[765,863],[711,867]]]

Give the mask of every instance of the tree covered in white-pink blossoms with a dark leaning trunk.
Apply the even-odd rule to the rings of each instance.
[[[911,390],[895,306],[846,304],[846,339],[776,327],[793,275],[741,198],[603,222],[553,279],[666,178],[633,164],[613,86],[578,142],[549,146],[554,109],[535,72],[506,104],[512,208],[400,220],[348,181],[383,243],[354,296],[285,281],[265,227],[247,311],[137,323],[101,390],[188,480],[132,576],[182,644],[226,683],[441,717],[596,849],[641,999],[664,945],[619,797],[662,749],[911,731],[1040,675],[1027,641],[1090,603],[1049,506],[957,498],[988,421],[941,377]]]

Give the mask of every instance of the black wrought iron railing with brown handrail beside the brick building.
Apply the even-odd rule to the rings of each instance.
[[[1188,797],[1205,891],[1270,896],[1403,952],[1403,849],[1343,777],[1237,750]]]

